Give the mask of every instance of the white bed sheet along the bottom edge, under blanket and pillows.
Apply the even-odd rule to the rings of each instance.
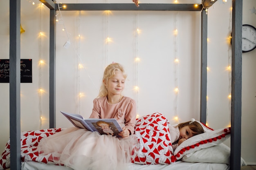
[[[72,170],[72,168],[26,161],[22,162],[21,170]],[[139,165],[130,163],[129,170],[229,170],[229,165],[225,163],[190,163],[183,161],[177,161],[171,165]]]

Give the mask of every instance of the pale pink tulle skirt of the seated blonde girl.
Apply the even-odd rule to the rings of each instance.
[[[41,155],[51,153],[55,164],[74,170],[126,170],[137,143],[135,135],[117,138],[68,128],[40,141],[38,151]]]

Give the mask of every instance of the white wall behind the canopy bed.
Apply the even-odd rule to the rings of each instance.
[[[9,3],[0,2],[0,59],[8,59]],[[49,9],[40,7],[38,1],[35,3],[21,0],[21,24],[25,29],[21,34],[21,58],[33,60],[33,83],[21,84],[22,131],[49,127]],[[155,1],[141,0],[141,3]],[[256,15],[250,11],[253,7],[256,7],[255,0],[243,2],[243,24],[256,26]],[[72,126],[60,110],[84,117],[90,115],[103,70],[111,62],[124,65],[128,73],[124,95],[136,100],[139,116],[160,112],[172,124],[177,123],[175,116],[179,117],[179,122],[200,119],[200,12],[111,11],[107,15],[105,11],[81,11],[80,14],[79,11],[62,11],[61,14],[64,25],[56,27],[57,127]],[[60,13],[57,18],[59,16]],[[66,31],[62,31],[63,28]],[[175,29],[177,37],[173,33]],[[230,33],[231,0],[216,2],[208,11],[207,123],[214,129],[230,126],[231,75],[226,70],[231,64]],[[106,43],[107,36],[111,42]],[[68,40],[71,45],[66,49],[63,45]],[[256,50],[243,53],[242,157],[249,163],[256,163],[255,56]],[[138,63],[135,57],[140,58]],[[40,59],[44,61],[41,65]],[[79,69],[79,63],[84,68]],[[177,85],[179,93],[176,95]],[[138,92],[133,90],[134,86],[139,86]],[[9,138],[8,83],[0,83],[0,94],[0,148],[4,148]],[[226,144],[230,145],[229,142]]]

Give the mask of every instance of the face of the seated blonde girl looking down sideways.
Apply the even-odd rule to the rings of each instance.
[[[125,78],[121,71],[115,71],[115,76],[108,79],[105,84],[108,89],[108,95],[121,95],[124,90]]]

